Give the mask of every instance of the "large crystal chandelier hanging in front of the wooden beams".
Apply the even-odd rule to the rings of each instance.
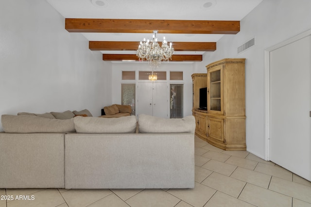
[[[146,41],[144,38],[143,42],[140,42],[137,50],[137,56],[140,60],[147,60],[149,65],[153,68],[159,67],[161,61],[169,61],[172,60],[172,55],[174,54],[174,48],[172,48],[172,42],[170,46],[168,46],[165,37],[163,37],[162,46],[157,43],[156,38],[157,30],[154,31],[153,39]]]

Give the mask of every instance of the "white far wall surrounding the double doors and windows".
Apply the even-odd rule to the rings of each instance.
[[[136,71],[136,81],[134,80],[122,80],[122,71]],[[121,83],[137,83],[138,71],[150,71],[151,67],[144,63],[113,63],[112,64],[112,103],[121,104]],[[170,83],[182,83],[184,84],[184,116],[192,115],[192,79],[193,64],[191,63],[162,63],[160,67],[155,71],[167,71],[167,80]],[[170,71],[182,71],[184,80],[169,80]],[[149,80],[148,80],[149,81]]]

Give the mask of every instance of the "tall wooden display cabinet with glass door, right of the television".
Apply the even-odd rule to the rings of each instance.
[[[245,59],[207,66],[207,142],[224,150],[246,150]]]

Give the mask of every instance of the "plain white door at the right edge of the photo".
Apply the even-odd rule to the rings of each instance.
[[[270,51],[270,160],[311,181],[311,36]]]

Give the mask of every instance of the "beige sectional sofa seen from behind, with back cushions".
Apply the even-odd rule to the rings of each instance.
[[[194,188],[193,116],[1,121],[0,188]]]

